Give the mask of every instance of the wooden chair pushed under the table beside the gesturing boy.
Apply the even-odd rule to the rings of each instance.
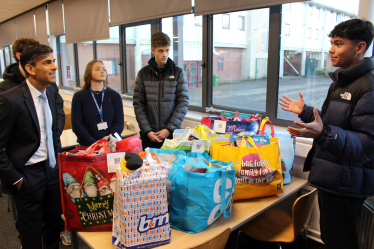
[[[240,231],[261,241],[291,243],[305,231],[316,195],[317,189],[314,189],[297,198],[292,207],[292,218],[285,212],[272,208],[246,223]]]

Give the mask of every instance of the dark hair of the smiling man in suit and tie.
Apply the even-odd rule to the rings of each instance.
[[[26,48],[22,52],[20,58],[20,63],[23,71],[25,71],[26,78],[29,77],[29,73],[26,71],[25,66],[30,64],[35,67],[38,60],[47,57],[51,53],[53,53],[53,49],[48,45],[34,45]]]

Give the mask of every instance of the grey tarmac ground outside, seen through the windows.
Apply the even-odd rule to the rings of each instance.
[[[213,87],[213,104],[244,108],[249,110],[266,110],[266,79],[257,81],[219,83]],[[299,91],[304,96],[307,105],[322,107],[327,91],[332,80],[325,76],[285,76],[279,80],[279,96],[287,95],[293,99],[299,99]],[[201,87],[190,87],[190,105],[201,106]],[[279,105],[278,105],[279,106]],[[298,120],[296,115],[285,112],[279,108],[278,118],[286,120]]]

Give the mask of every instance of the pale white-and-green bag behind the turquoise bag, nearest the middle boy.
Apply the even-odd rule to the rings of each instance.
[[[165,150],[183,150],[186,153],[192,151],[192,147],[196,141],[201,141],[204,143],[204,151],[208,152],[210,151],[211,147],[211,140],[210,139],[200,139],[191,141],[188,138],[192,134],[193,130],[190,128],[187,128],[184,130],[183,134],[177,138],[173,139],[165,139],[164,144],[162,145],[161,149]]]

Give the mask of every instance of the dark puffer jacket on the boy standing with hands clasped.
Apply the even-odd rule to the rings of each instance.
[[[164,73],[156,70],[154,58],[136,77],[133,105],[142,134],[179,129],[188,111],[189,95],[183,70],[168,59]]]

